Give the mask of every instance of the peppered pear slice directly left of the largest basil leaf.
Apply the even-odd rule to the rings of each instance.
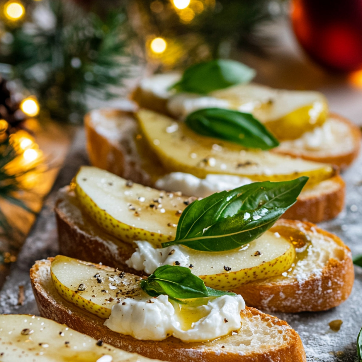
[[[187,203],[178,193],[133,184],[96,167],[81,167],[72,188],[102,229],[129,243],[147,240],[160,246],[173,240]]]

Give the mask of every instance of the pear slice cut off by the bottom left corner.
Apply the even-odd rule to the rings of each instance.
[[[0,315],[1,362],[157,362],[74,331],[52,320]]]

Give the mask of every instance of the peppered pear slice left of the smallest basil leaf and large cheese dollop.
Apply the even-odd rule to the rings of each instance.
[[[54,258],[50,274],[60,296],[103,319],[120,300],[144,296],[137,284],[140,277],[63,255]]]

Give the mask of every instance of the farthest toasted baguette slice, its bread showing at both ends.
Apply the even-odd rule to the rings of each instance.
[[[175,83],[180,77],[176,73],[174,77],[170,74],[157,75],[157,79],[160,79],[161,83],[164,82],[163,76],[169,78],[165,78],[166,82],[168,82],[167,84]],[[155,92],[154,88],[144,86],[141,82],[130,97],[140,108],[148,108],[172,116],[168,110],[170,93],[162,91],[167,88],[167,86],[163,88],[161,85],[160,89],[157,89],[159,91]],[[329,114],[323,127],[326,131],[325,134],[328,135],[326,137],[328,142],[323,142],[319,147],[313,147],[311,144],[313,142],[306,142],[306,138],[311,136],[310,132],[308,132],[308,135],[301,135],[296,140],[281,142],[280,146],[275,148],[273,152],[312,161],[331,163],[342,170],[347,168],[358,156],[361,146],[361,131],[353,122],[336,113]],[[314,138],[320,136],[320,130],[315,131]]]

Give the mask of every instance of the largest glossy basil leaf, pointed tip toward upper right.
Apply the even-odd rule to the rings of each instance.
[[[308,177],[282,182],[254,182],[196,200],[182,212],[175,240],[200,251],[240,247],[267,231],[296,202]]]

